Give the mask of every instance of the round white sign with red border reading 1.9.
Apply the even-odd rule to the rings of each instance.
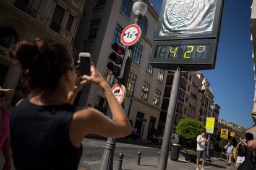
[[[126,26],[124,31],[121,34],[121,42],[124,46],[132,46],[134,45],[142,35],[142,31],[140,30],[140,26],[132,24]]]

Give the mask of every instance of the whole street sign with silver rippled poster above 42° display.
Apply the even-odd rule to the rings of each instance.
[[[224,0],[163,0],[150,64],[164,70],[215,68]]]

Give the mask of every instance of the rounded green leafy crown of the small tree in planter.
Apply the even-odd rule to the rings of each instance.
[[[177,134],[184,139],[193,140],[205,129],[205,124],[193,118],[181,119],[177,124]]]

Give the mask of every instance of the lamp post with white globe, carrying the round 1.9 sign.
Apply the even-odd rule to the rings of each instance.
[[[134,12],[134,24],[140,25],[143,15],[147,12],[147,4],[144,1],[139,0],[134,2],[132,10]],[[130,67],[132,66],[132,52],[134,51],[134,46],[128,48],[128,56],[126,60],[126,65],[124,68],[124,75],[122,78],[122,84],[127,87],[127,82],[129,78]],[[132,102],[132,100],[131,100]],[[130,103],[131,105],[131,103]],[[129,115],[129,114],[128,114]],[[99,170],[113,170],[113,158],[114,158],[114,148],[116,147],[116,139],[108,138],[105,145],[105,150],[100,161]]]

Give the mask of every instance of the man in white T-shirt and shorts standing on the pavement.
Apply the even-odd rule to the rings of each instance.
[[[202,168],[201,170],[205,169],[205,159],[206,159],[206,147],[208,139],[205,138],[206,132],[202,131],[200,135],[197,136],[197,169],[199,170],[199,160],[203,158]]]

